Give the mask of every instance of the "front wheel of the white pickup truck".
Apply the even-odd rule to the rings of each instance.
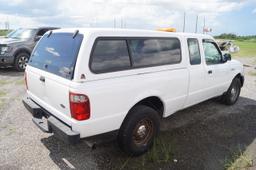
[[[239,98],[241,91],[241,81],[239,78],[234,78],[228,91],[222,96],[222,103],[226,105],[233,105]]]

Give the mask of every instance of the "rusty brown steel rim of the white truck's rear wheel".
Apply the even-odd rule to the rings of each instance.
[[[148,118],[142,119],[133,130],[132,139],[134,144],[137,146],[146,145],[153,136],[153,132],[153,122]]]

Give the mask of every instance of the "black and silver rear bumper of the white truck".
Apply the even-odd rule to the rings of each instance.
[[[28,97],[23,100],[24,106],[32,114],[32,121],[46,133],[53,133],[57,138],[68,144],[76,144],[80,141],[80,134],[71,129],[50,113],[46,112],[38,104]]]

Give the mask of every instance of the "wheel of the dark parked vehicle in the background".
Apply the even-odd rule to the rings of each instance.
[[[29,54],[28,53],[25,53],[25,52],[19,53],[16,56],[15,61],[14,61],[15,69],[17,71],[20,71],[20,72],[25,71],[28,60],[29,60]]]

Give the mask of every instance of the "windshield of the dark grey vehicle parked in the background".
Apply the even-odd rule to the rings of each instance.
[[[28,39],[34,36],[36,29],[17,29],[7,35],[8,38]]]

